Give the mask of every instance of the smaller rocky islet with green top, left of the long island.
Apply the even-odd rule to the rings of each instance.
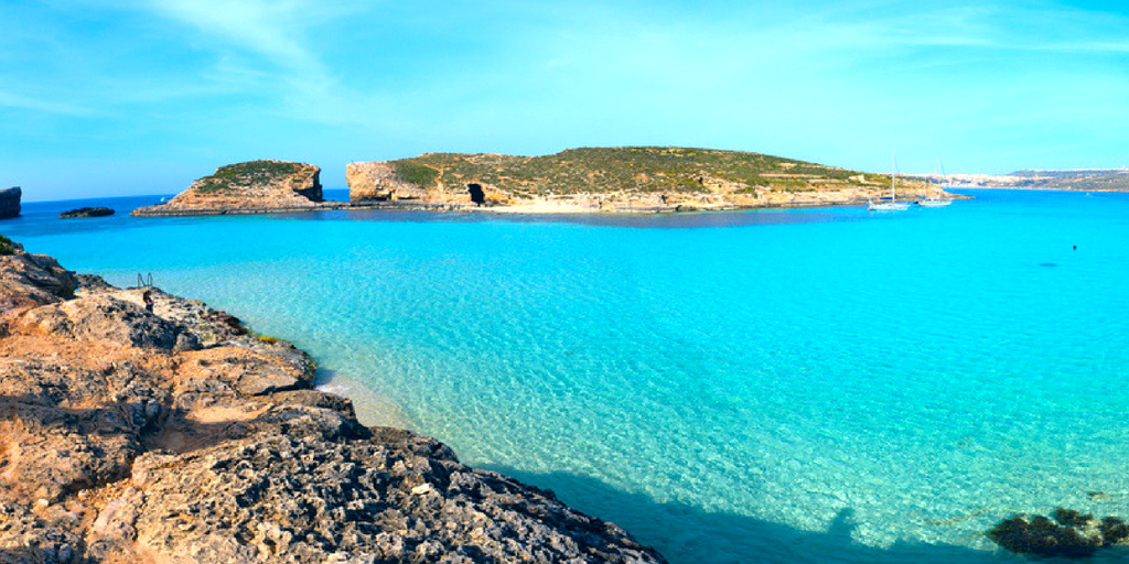
[[[332,208],[322,199],[321,168],[281,160],[253,160],[216,169],[166,203],[133,215],[270,213]]]

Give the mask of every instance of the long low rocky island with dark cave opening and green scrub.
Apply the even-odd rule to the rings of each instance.
[[[427,153],[351,162],[355,206],[525,212],[656,212],[866,203],[890,177],[754,152],[663,147],[570,149],[544,157]],[[905,199],[936,186],[900,179]]]

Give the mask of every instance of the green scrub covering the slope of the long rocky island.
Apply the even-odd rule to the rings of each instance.
[[[597,192],[709,192],[708,183],[803,192],[833,185],[890,185],[882,175],[755,152],[663,147],[569,149],[544,157],[428,153],[392,161],[396,175],[422,187],[491,184],[517,195]],[[863,175],[861,177],[859,175]]]

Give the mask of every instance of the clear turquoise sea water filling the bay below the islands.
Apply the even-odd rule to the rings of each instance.
[[[1014,512],[1129,517],[1129,195],[972,194],[549,219],[61,202],[0,230],[229,309],[367,422],[675,563],[1014,562],[981,535]]]

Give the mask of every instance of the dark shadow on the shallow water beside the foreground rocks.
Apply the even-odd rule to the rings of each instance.
[[[614,522],[642,544],[658,549],[672,564],[951,564],[1067,563],[1033,559],[1004,550],[964,546],[895,543],[882,548],[851,538],[858,525],[854,511],[842,509],[824,531],[805,531],[745,515],[714,513],[681,503],[660,503],[645,495],[619,492],[596,479],[571,474],[531,474],[488,467],[526,484],[553,490],[558,497],[585,513]],[[584,492],[578,504],[569,492]],[[1006,515],[1003,515],[1006,517]],[[1113,562],[1088,559],[1088,563]]]

